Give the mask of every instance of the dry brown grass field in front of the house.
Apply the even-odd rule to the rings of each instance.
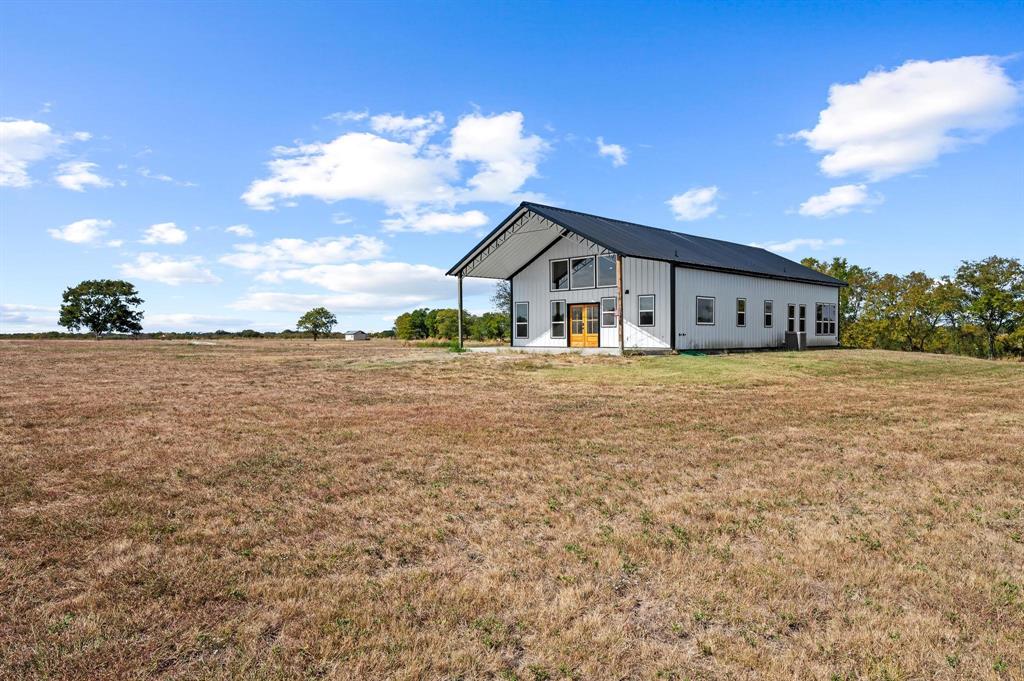
[[[1024,366],[0,342],[0,676],[1024,678]]]

